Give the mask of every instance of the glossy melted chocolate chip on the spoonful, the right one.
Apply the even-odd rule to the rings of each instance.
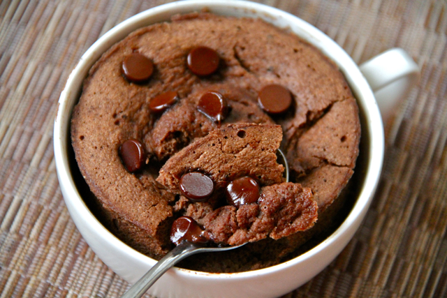
[[[259,196],[258,181],[248,176],[235,179],[226,186],[226,200],[235,207],[256,203]]]

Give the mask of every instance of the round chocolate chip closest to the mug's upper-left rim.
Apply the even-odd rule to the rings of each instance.
[[[139,53],[133,53],[124,58],[122,72],[127,80],[141,83],[149,80],[154,71],[154,64],[149,58]]]

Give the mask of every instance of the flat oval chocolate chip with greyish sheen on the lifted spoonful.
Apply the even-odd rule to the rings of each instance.
[[[180,192],[193,202],[205,202],[214,191],[214,182],[199,172],[190,172],[180,178]]]

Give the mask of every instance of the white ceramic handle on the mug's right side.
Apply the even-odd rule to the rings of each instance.
[[[419,67],[404,50],[387,50],[359,66],[374,92],[386,124],[419,77]]]

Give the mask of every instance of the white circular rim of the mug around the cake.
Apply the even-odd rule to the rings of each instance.
[[[195,6],[196,8],[191,8],[191,6]],[[346,233],[351,234],[350,236],[347,236],[350,240],[353,233],[358,230],[358,225],[360,225],[367,212],[367,209],[369,208],[369,204],[372,201],[377,184],[379,183],[381,167],[383,164],[383,123],[381,121],[379,108],[374,99],[372,90],[369,88],[369,84],[367,84],[365,77],[363,77],[362,73],[360,73],[358,66],[351,59],[351,57],[349,57],[349,55],[342,49],[342,47],[337,45],[334,40],[326,36],[325,33],[316,29],[316,27],[312,26],[312,24],[301,20],[295,15],[286,13],[285,11],[279,10],[278,8],[273,8],[271,6],[249,1],[185,0],[173,3],[166,3],[161,6],[156,6],[154,8],[150,8],[149,10],[145,10],[141,13],[138,13],[137,15],[134,15],[133,17],[130,17],[124,22],[117,24],[117,26],[110,29],[107,33],[101,36],[101,38],[98,38],[98,40],[96,40],[96,42],[91,45],[91,47],[89,47],[89,49],[85,52],[85,54],[82,55],[80,61],[68,77],[66,86],[64,87],[64,91],[61,92],[61,96],[59,98],[57,117],[54,119],[54,157],[59,183],[61,184],[61,188],[64,188],[63,193],[66,204],[72,204],[73,208],[75,208],[77,212],[81,212],[82,214],[84,214],[83,217],[87,216],[89,223],[93,223],[93,226],[91,226],[92,230],[105,233],[107,235],[106,237],[108,239],[107,242],[109,245],[117,246],[120,251],[124,251],[124,253],[126,254],[130,253],[133,258],[138,259],[140,262],[143,262],[147,266],[152,267],[156,263],[156,260],[154,260],[153,258],[135,251],[135,249],[131,248],[131,246],[127,246],[126,244],[124,244],[123,241],[109,232],[109,230],[107,230],[98,221],[98,218],[96,218],[96,216],[91,213],[84,200],[82,199],[80,193],[78,192],[68,163],[67,145],[70,142],[69,127],[71,111],[73,110],[73,107],[75,103],[77,103],[77,100],[80,96],[80,92],[82,91],[82,81],[86,77],[89,68],[93,66],[98,57],[101,57],[101,54],[103,54],[105,50],[108,50],[112,44],[116,43],[119,40],[122,40],[125,36],[127,36],[131,31],[134,31],[135,29],[148,26],[149,24],[154,24],[156,22],[161,22],[161,20],[153,21],[154,18],[156,19],[158,17],[160,19],[162,17],[163,20],[168,20],[168,18],[166,17],[170,17],[171,15],[175,14],[175,12],[173,13],[173,10],[184,10],[186,8],[189,8],[189,11],[191,12],[194,10],[199,10],[200,8],[198,8],[198,6],[206,6],[207,8],[210,8],[212,12],[213,9],[216,10],[217,8],[236,8],[244,10],[244,13],[252,13],[256,17],[261,17],[263,19],[266,18],[268,22],[272,20],[277,21],[277,19],[275,20],[274,17],[278,17],[278,15],[280,15],[284,18],[284,20],[286,20],[286,22],[290,22],[291,24],[298,24],[300,29],[307,32],[309,36],[302,36],[300,35],[300,33],[295,32],[293,28],[289,29],[291,29],[291,31],[297,34],[300,38],[305,39],[307,42],[316,46],[318,50],[321,50],[321,52],[325,54],[326,57],[329,57],[331,61],[334,61],[344,74],[346,81],[349,83],[349,86],[353,91],[354,97],[356,98],[359,107],[365,114],[365,126],[367,126],[367,130],[369,131],[368,134],[370,139],[369,158],[366,165],[367,172],[365,174],[362,187],[360,188],[358,198],[348,216],[346,216],[339,228],[332,232],[332,234],[330,234],[328,238],[321,241],[318,245],[316,245],[309,251],[302,253],[302,255],[271,267],[230,274],[212,274],[210,272],[193,271],[177,267],[174,267],[173,269],[177,272],[177,274],[181,276],[187,275],[201,278],[220,279],[228,278],[229,276],[232,276],[232,278],[235,278],[237,276],[258,276],[270,274],[274,271],[280,271],[288,267],[292,267],[299,262],[305,262],[309,258],[312,258],[315,255],[321,253],[321,251],[328,249],[328,247],[336,245],[337,241],[340,241],[340,238]],[[247,10],[250,8],[253,9],[252,12]],[[273,17],[274,14],[275,16]],[[141,25],[142,23],[145,24]],[[321,41],[322,44],[316,45],[314,40],[315,38]],[[321,46],[324,46],[324,49],[322,49]],[[330,53],[328,52],[328,47],[330,47]],[[96,59],[93,59],[92,57],[96,57]],[[68,196],[68,198],[66,198],[66,196]],[[69,211],[71,211],[71,209],[69,209]],[[73,216],[71,217],[73,218]],[[344,248],[344,246],[342,248]]]

